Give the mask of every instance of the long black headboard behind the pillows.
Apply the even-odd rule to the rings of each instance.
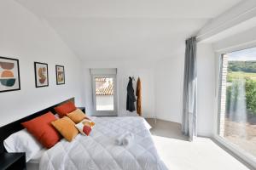
[[[15,122],[11,122],[7,125],[4,125],[3,127],[0,127],[0,153],[4,152],[4,150],[5,150],[4,146],[3,146],[3,140],[7,139],[9,137],[9,135],[11,135],[12,133],[18,132],[24,128],[21,126],[21,124],[20,124],[21,122],[26,122],[26,121],[29,121],[29,120],[37,117],[37,116],[44,115],[44,113],[47,113],[48,111],[51,111],[52,113],[55,114],[54,108],[58,105],[66,103],[67,101],[73,101],[73,103],[74,103],[74,98],[67,99],[65,101],[62,101],[59,104],[52,105],[49,108],[44,109],[43,111],[38,111],[30,116],[23,117]]]

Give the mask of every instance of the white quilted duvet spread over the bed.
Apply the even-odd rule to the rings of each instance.
[[[62,139],[47,150],[39,169],[166,170],[142,117],[94,117],[90,136],[79,134],[71,143]],[[128,146],[115,144],[122,133],[134,134]]]

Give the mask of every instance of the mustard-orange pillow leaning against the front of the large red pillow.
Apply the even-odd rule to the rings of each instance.
[[[75,123],[67,116],[51,122],[51,124],[69,142],[71,142],[79,133],[78,129],[75,127]]]

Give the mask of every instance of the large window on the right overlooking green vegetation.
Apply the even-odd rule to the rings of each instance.
[[[222,55],[218,135],[256,158],[256,48]]]

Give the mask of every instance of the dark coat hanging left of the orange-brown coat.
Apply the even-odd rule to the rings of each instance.
[[[129,77],[129,82],[128,82],[128,86],[127,86],[127,100],[126,100],[126,110],[127,111],[135,111],[134,102],[136,102],[136,98],[134,95],[134,89],[132,87],[132,78]]]

